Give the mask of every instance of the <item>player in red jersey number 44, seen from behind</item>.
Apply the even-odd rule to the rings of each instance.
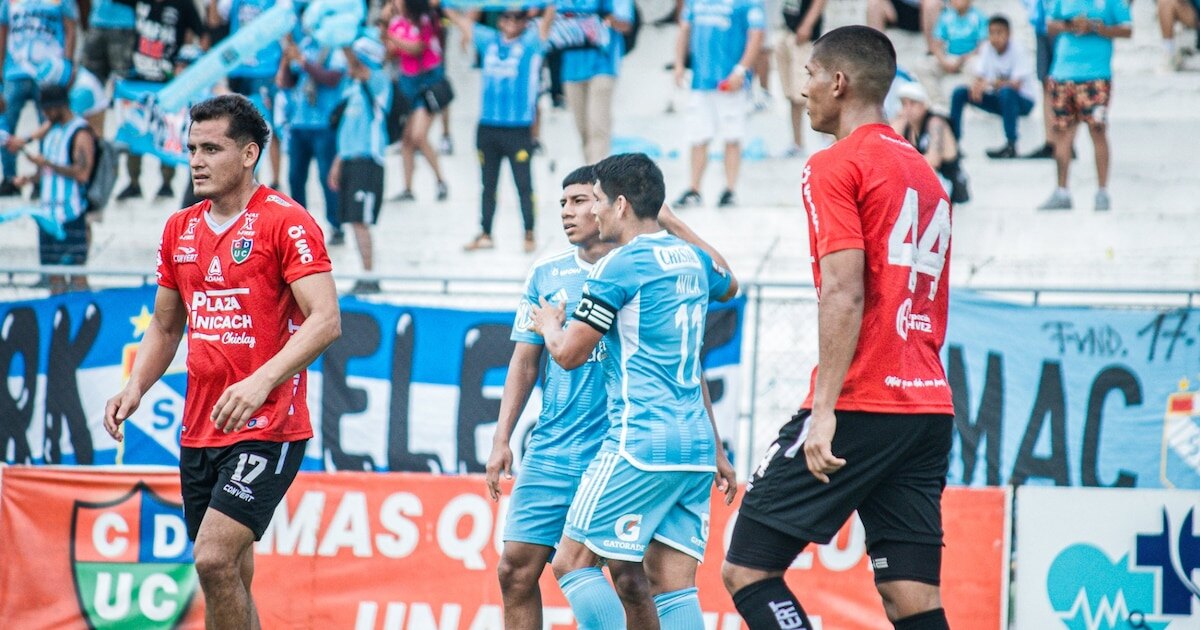
[[[811,628],[784,571],[854,510],[888,619],[949,628],[938,582],[954,408],[938,354],[950,205],[883,118],[895,59],[880,31],[846,26],[817,40],[806,66],[812,128],[838,138],[800,176],[818,368],[746,486],[721,571],[752,630]]]

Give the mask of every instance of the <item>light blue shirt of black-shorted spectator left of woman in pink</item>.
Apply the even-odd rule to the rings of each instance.
[[[388,149],[388,109],[391,107],[391,82],[382,68],[371,66],[366,83],[347,82],[343,91],[346,109],[337,127],[337,157],[368,157],[379,166]]]

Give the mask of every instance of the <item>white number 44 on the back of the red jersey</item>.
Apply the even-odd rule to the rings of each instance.
[[[929,284],[929,299],[932,300],[937,296],[937,282],[942,277],[946,253],[950,248],[950,204],[944,198],[937,200],[934,218],[925,227],[924,234],[918,233],[919,209],[917,191],[908,188],[888,236],[888,263],[910,269],[911,292],[917,290],[918,274],[932,276]]]

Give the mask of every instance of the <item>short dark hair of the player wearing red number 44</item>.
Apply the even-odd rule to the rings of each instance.
[[[812,44],[812,60],[850,77],[854,92],[883,103],[896,76],[896,49],[887,35],[862,25],[841,26]]]

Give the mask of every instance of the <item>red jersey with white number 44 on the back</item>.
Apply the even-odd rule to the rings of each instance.
[[[812,280],[822,257],[862,250],[863,325],[836,409],[953,414],[941,350],[949,300],[950,202],[925,158],[887,125],[815,154],[800,178]],[[812,408],[812,370],[802,408]]]

